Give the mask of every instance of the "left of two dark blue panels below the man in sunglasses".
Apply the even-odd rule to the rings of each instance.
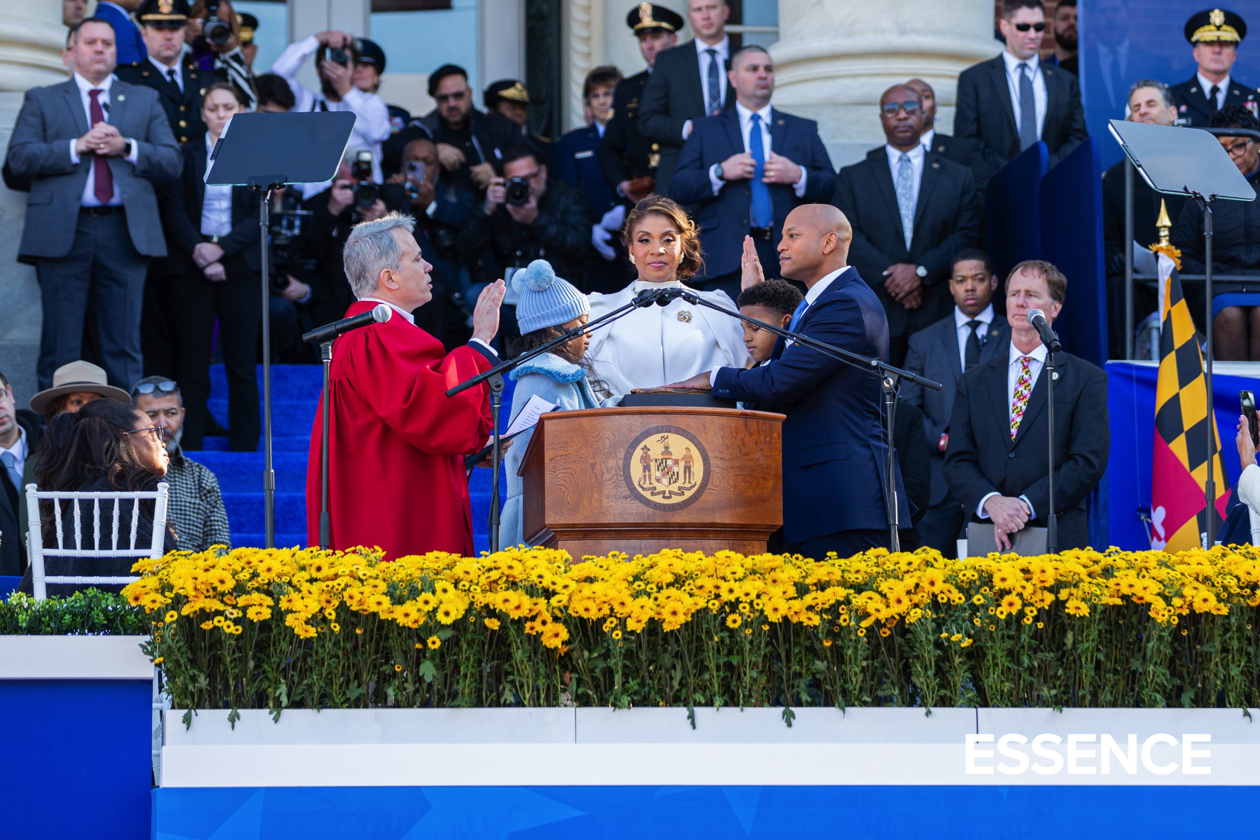
[[[1046,144],[1037,143],[989,179],[985,238],[999,277],[1021,260],[1041,259],[1041,179],[1047,161]]]

